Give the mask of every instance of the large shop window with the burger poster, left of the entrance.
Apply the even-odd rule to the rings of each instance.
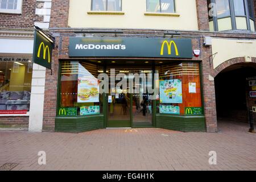
[[[59,109],[62,117],[100,114],[101,94],[97,65],[79,61],[61,61]]]

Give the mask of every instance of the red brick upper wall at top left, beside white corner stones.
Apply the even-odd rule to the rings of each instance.
[[[22,1],[22,14],[0,13],[0,28],[30,29],[34,26],[34,20],[42,19],[35,15],[36,0]]]

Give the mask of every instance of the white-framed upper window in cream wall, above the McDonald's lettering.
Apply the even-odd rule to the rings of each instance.
[[[92,0],[92,11],[122,11],[122,0]]]

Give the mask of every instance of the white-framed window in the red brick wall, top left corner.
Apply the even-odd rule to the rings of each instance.
[[[0,13],[22,13],[22,0],[0,0]]]

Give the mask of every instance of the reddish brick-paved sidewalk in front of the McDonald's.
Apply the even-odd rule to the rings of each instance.
[[[0,131],[0,166],[13,170],[256,170],[256,134],[218,122],[220,132],[102,129],[80,134]],[[38,151],[47,164],[39,166]],[[217,152],[217,165],[208,163]]]

